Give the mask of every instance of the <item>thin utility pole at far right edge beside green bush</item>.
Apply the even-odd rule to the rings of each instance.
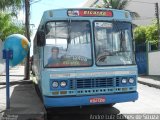
[[[160,50],[160,27],[159,27],[159,7],[158,3],[155,3],[155,15],[157,18],[157,29],[158,29],[158,50]]]

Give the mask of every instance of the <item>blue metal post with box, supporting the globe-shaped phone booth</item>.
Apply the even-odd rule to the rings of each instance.
[[[12,50],[3,50],[3,59],[6,59],[6,109],[10,109],[9,60],[12,55]]]

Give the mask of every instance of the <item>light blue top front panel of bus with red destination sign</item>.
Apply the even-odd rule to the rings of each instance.
[[[108,8],[64,8],[47,10],[43,13],[40,26],[51,20],[114,20],[129,21],[132,18],[125,10]]]

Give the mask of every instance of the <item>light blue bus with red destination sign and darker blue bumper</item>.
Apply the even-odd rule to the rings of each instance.
[[[47,10],[33,50],[33,73],[46,108],[113,106],[138,99],[128,11]]]

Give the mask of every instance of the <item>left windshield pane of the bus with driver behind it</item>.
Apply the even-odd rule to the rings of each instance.
[[[45,67],[91,66],[88,21],[56,21],[46,24]]]

